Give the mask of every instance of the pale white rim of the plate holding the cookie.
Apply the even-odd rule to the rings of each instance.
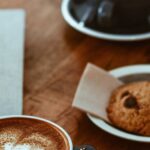
[[[131,65],[131,66],[125,66],[125,67],[120,67],[117,69],[113,69],[110,71],[110,74],[120,78],[123,76],[127,75],[133,75],[133,74],[142,74],[142,73],[149,73],[150,74],[150,65]],[[103,121],[100,118],[94,117],[91,114],[87,114],[88,118],[99,128],[102,130],[108,132],[109,134],[112,134],[114,136],[131,140],[131,141],[136,141],[136,142],[144,142],[144,143],[150,143],[150,137],[147,136],[141,136],[141,135],[136,135],[133,133],[128,133],[123,130],[119,130],[115,128],[114,126],[108,124],[107,122]]]

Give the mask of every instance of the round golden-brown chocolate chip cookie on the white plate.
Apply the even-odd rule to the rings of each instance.
[[[107,108],[116,127],[150,136],[150,82],[135,82],[116,89]]]

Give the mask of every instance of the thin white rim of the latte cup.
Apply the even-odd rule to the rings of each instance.
[[[53,125],[54,127],[58,128],[66,137],[68,144],[69,144],[69,150],[73,150],[73,143],[71,140],[71,137],[69,136],[69,134],[67,133],[67,131],[65,131],[65,129],[63,129],[61,126],[59,126],[58,124],[54,123],[53,121],[41,118],[41,117],[37,117],[37,116],[30,116],[30,115],[7,115],[7,116],[0,116],[0,119],[12,119],[12,118],[23,118],[23,119],[35,119],[35,120],[39,120],[48,124]]]

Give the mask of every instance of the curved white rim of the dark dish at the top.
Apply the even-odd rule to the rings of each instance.
[[[104,32],[95,31],[88,27],[80,25],[70,14],[69,12],[69,2],[70,0],[62,0],[62,15],[66,22],[72,26],[74,29],[87,34],[92,37],[113,40],[113,41],[139,41],[150,39],[150,32],[142,33],[142,34],[130,34],[130,35],[121,35],[121,34],[109,34]]]

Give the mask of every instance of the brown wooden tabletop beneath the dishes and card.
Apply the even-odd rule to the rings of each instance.
[[[88,62],[111,70],[150,63],[150,41],[118,43],[82,35],[61,16],[60,0],[0,0],[1,8],[27,12],[24,114],[50,119],[64,127],[74,144],[97,150],[148,150],[149,144],[114,137],[93,125],[71,103]]]

